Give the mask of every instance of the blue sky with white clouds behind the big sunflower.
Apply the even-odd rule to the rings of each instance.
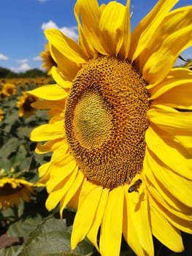
[[[157,1],[131,1],[131,6],[134,6],[132,28]],[[0,67],[7,67],[15,72],[40,68],[42,62],[39,53],[44,50],[47,42],[44,29],[55,27],[77,39],[77,23],[73,12],[75,2],[76,0],[1,0]],[[99,0],[99,4],[107,2],[109,1]],[[126,4],[126,0],[119,2]],[[192,1],[180,0],[176,7],[185,5],[192,5]],[[191,48],[185,50],[183,57],[192,59]]]

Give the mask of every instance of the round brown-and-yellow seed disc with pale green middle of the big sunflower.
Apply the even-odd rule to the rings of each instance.
[[[134,64],[102,56],[77,73],[66,101],[65,129],[82,173],[113,189],[142,172],[150,107]]]

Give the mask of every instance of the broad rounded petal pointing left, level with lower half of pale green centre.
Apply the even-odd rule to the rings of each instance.
[[[62,121],[58,121],[54,124],[42,124],[40,127],[33,129],[31,132],[31,140],[46,141],[64,138],[65,129],[63,123]]]

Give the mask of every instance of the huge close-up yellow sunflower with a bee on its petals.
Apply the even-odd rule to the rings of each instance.
[[[153,255],[153,236],[181,252],[180,230],[192,233],[192,72],[173,68],[192,6],[176,3],[158,1],[131,33],[130,1],[77,0],[78,43],[45,31],[57,84],[31,91],[50,109],[31,140],[53,151],[39,168],[47,208],[77,209],[72,249],[88,236],[116,256],[123,233],[137,255]]]

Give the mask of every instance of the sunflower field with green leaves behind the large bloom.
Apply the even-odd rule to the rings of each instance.
[[[0,255],[99,255],[85,238],[72,252],[70,238],[75,212],[66,208],[47,211],[45,186],[38,183],[37,169],[50,154],[37,154],[30,140],[37,124],[48,120],[47,110],[33,108],[38,98],[28,91],[52,84],[48,78],[0,80]],[[154,238],[155,239],[155,238]],[[187,250],[174,253],[154,240],[159,255],[188,255],[191,236],[183,233]],[[120,255],[135,255],[122,241]]]

